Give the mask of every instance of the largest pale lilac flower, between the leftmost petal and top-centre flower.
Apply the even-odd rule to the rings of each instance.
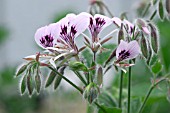
[[[78,52],[75,44],[75,38],[80,35],[89,25],[89,14],[80,13],[79,15],[68,14],[65,18],[61,19],[55,24],[53,33],[56,38],[56,44],[53,50],[66,50]]]

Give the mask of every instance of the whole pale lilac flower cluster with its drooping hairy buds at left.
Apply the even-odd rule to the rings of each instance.
[[[114,29],[105,37],[101,38],[100,33],[108,26],[114,26]],[[105,68],[105,66],[99,66],[97,64],[95,57],[96,54],[100,54],[98,51],[102,52],[106,50],[103,44],[112,39],[111,35],[113,33],[118,34],[118,46],[113,50],[113,54],[110,55],[109,59],[105,60],[105,66],[109,66],[108,64],[111,63],[114,66],[125,69],[126,67],[134,65],[126,61],[135,59],[141,53],[139,45],[140,34],[148,35],[150,33],[148,25],[141,19],[137,19],[136,22],[132,24],[128,20],[122,20],[118,17],[109,18],[101,14],[92,16],[89,13],[82,12],[78,15],[68,14],[56,23],[39,28],[35,33],[35,41],[44,49],[44,52],[24,58],[28,62],[24,64],[24,68],[22,66],[18,70],[19,73],[17,73],[18,76],[25,71],[22,81],[27,81],[27,88],[21,89],[22,94],[28,89],[29,94],[32,95],[33,90],[37,89],[37,87],[31,87],[30,78],[35,79],[35,82],[39,83],[37,92],[40,91],[40,67],[46,66],[52,70],[47,78],[46,87],[55,81],[55,84],[57,84],[55,86],[56,89],[62,78],[86,95],[85,98],[88,98],[88,101],[92,103],[100,92],[99,90],[103,82],[103,70]],[[76,38],[84,39],[84,45],[82,45],[82,47],[78,47]],[[81,54],[85,49],[91,50],[94,55],[90,66],[86,65],[86,61]],[[114,57],[116,57],[116,59],[110,62]],[[80,89],[63,76],[66,67],[69,67],[69,69],[79,77],[82,83],[84,83],[85,88]],[[59,70],[62,70],[62,72],[59,72]],[[35,72],[36,75],[34,74]],[[81,72],[84,72],[84,76]],[[56,75],[58,75],[59,78],[56,77]],[[96,83],[94,82],[95,76],[97,76]],[[27,79],[25,80],[25,78]],[[90,84],[93,84],[94,89],[97,89],[95,90],[94,97],[92,96],[94,95],[94,91],[91,91]],[[22,84],[21,87],[23,88]],[[90,88],[88,89],[87,87]]]

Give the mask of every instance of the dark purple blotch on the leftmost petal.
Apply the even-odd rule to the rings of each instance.
[[[40,43],[42,46],[46,47],[53,47],[53,40],[54,38],[50,35],[46,35],[44,37],[41,37]]]

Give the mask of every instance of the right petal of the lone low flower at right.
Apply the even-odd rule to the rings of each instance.
[[[136,58],[141,53],[140,46],[136,40],[128,43],[127,50],[129,51],[130,56],[126,60]]]

